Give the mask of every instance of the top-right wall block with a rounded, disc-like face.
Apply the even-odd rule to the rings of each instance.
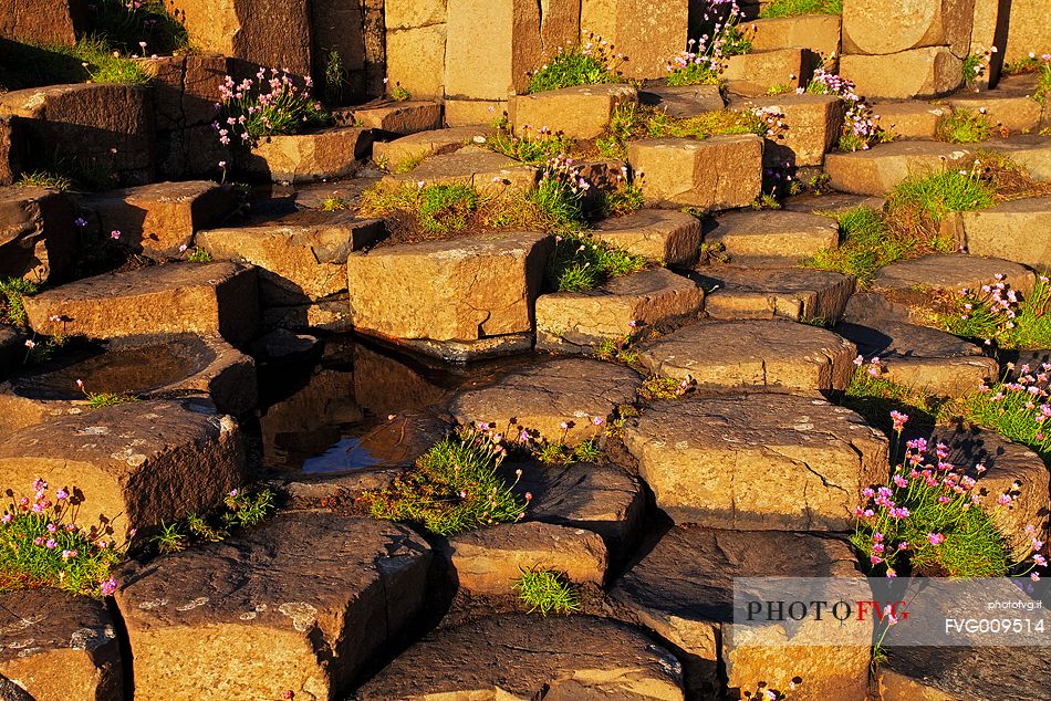
[[[843,3],[843,51],[889,54],[950,44],[965,55],[970,46],[974,11],[961,0],[916,0],[889,8],[880,0]]]

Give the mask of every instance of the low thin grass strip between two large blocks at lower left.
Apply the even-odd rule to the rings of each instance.
[[[150,542],[163,555],[178,553],[192,543],[219,543],[238,529],[259,525],[273,512],[274,495],[269,489],[256,493],[232,490],[215,514],[190,514],[183,521],[160,523],[160,531]]]

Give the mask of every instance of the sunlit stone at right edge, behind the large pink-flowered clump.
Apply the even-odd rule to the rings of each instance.
[[[1032,369],[1039,372],[1038,367]],[[1032,551],[1033,536],[1026,533],[1028,526],[1036,529],[1039,540],[1048,540],[1051,479],[1037,453],[996,431],[974,426],[938,427],[930,436],[930,443],[938,442],[948,446],[946,462],[978,480],[975,490],[980,494],[981,506],[1003,534],[1016,558],[1022,561]],[[979,464],[987,471],[979,473],[976,470]],[[1016,496],[1010,509],[995,505],[1001,494]]]

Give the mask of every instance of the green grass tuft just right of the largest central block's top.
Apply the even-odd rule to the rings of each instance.
[[[583,234],[559,236],[548,261],[548,287],[556,292],[586,292],[610,278],[638,272],[647,262],[643,255]]]

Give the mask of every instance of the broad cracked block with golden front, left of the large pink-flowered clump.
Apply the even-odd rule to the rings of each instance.
[[[758,393],[662,401],[624,444],[677,523],[844,531],[887,477],[887,439],[823,399]]]

